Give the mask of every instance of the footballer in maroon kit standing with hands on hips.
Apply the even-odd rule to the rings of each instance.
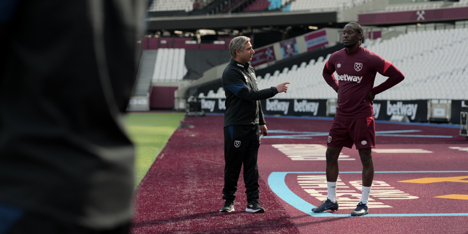
[[[323,78],[338,94],[338,106],[327,143],[327,200],[314,207],[313,212],[338,209],[338,156],[343,146],[351,148],[353,144],[362,162],[362,197],[351,215],[361,216],[369,212],[367,204],[374,176],[371,154],[375,147],[373,100],[375,95],[401,82],[404,76],[392,63],[360,46],[362,31],[358,23],[346,24],[343,29],[344,49],[333,53],[323,68]],[[338,74],[336,78],[334,72]],[[388,79],[373,87],[376,73]]]

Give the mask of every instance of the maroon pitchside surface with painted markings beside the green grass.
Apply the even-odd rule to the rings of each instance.
[[[453,172],[468,170],[468,142],[458,135],[459,129],[377,122],[376,131],[382,133],[375,149],[380,151],[373,151],[375,171],[395,172],[374,176],[371,198],[375,208],[369,203],[369,214],[383,216],[349,216],[352,205],[357,204],[353,199],[360,198],[356,195],[359,187],[354,186],[361,179],[357,172],[362,168],[353,147],[344,148],[340,156],[343,188],[337,190],[346,190],[339,198],[340,209],[332,213],[335,216],[316,217],[301,211],[296,201],[299,197],[305,204],[319,205],[326,197],[326,192],[321,192],[326,188],[314,186],[320,187],[325,175],[322,153],[331,119],[266,119],[271,133],[262,139],[258,154],[260,200],[265,213],[244,211],[247,202],[242,175],[235,211],[218,212],[224,202],[223,116],[186,117],[139,184],[131,233],[468,233],[468,216],[463,215],[468,213],[468,173]],[[311,151],[318,153],[307,155]],[[284,181],[274,180],[275,173],[285,172]],[[296,200],[273,192],[271,186],[277,182],[285,183],[283,190],[294,193]],[[379,187],[384,192],[376,192]],[[380,196],[373,197],[373,193]],[[398,216],[437,213],[461,215]]]

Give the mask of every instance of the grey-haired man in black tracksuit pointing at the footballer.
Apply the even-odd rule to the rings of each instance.
[[[226,94],[224,115],[224,188],[226,200],[219,212],[234,211],[237,180],[244,165],[244,182],[247,194],[247,212],[264,212],[258,201],[257,154],[260,132],[268,134],[260,100],[286,92],[289,82],[277,87],[258,90],[253,67],[249,66],[255,53],[249,37],[235,37],[229,43],[231,62],[221,78]]]

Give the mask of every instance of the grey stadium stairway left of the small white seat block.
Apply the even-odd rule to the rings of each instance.
[[[153,79],[154,64],[156,63],[157,50],[144,50],[141,55],[139,70],[132,97],[128,106],[129,111],[149,110],[149,88]]]

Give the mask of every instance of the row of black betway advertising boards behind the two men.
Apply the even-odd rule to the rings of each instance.
[[[206,113],[224,113],[225,98],[201,98]],[[266,99],[261,100],[263,114],[281,116],[333,117],[336,99]],[[378,120],[409,120],[460,124],[462,108],[468,100],[374,100],[374,117]]]

